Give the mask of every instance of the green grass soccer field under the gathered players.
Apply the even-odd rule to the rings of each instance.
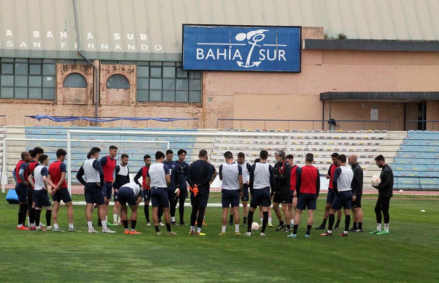
[[[389,235],[368,233],[376,227],[375,199],[364,199],[367,233],[344,238],[335,231],[335,237],[323,238],[313,228],[311,238],[305,239],[305,214],[298,238],[289,239],[274,227],[267,228],[265,238],[259,232],[234,236],[234,227],[227,227],[228,235],[218,236],[220,208],[208,208],[206,237],[189,236],[188,226],[174,226],[176,237],[156,236],[154,227],[145,224],[143,208],[137,227],[141,235],[123,234],[123,226],[113,227],[116,234],[88,234],[85,206],[80,205],[75,206],[75,223],[82,233],[19,231],[18,205],[9,205],[4,198],[0,194],[1,282],[437,282],[439,278],[438,200],[392,199]],[[314,226],[321,222],[323,206],[320,198]],[[65,208],[59,223],[67,230]],[[277,223],[274,217],[273,224]]]

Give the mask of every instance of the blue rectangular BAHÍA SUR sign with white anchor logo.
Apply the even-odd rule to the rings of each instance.
[[[183,25],[183,69],[300,72],[299,26]]]

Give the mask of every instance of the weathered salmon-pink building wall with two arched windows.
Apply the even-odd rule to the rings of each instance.
[[[323,38],[322,28],[303,28],[302,38]],[[322,119],[319,94],[327,91],[432,91],[439,89],[439,57],[429,52],[371,52],[302,50],[301,73],[203,72],[202,103],[136,101],[135,65],[100,65],[100,104],[98,115],[128,117],[197,118],[198,122],[113,122],[105,126],[201,127],[215,128],[218,119]],[[82,74],[86,89],[63,88],[62,80],[71,72]],[[130,89],[106,89],[106,80],[122,74]],[[80,64],[57,65],[56,101],[0,100],[0,112],[9,125],[39,124],[25,115],[94,116],[93,69]],[[325,103],[325,119],[329,116]],[[364,107],[361,105],[364,104]],[[404,123],[416,119],[417,109],[408,105],[406,121],[403,104],[381,101],[344,101],[332,103],[332,118],[370,119],[370,109],[379,109],[379,119],[391,120],[389,129],[404,130]],[[427,118],[439,120],[439,102],[428,101]],[[411,117],[410,119],[408,117]],[[75,122],[74,125],[90,125]],[[67,124],[66,124],[67,125]],[[383,128],[368,124],[366,128]],[[321,122],[228,122],[220,127],[320,129]],[[359,129],[361,124],[341,124],[340,129]],[[439,127],[439,123],[435,124]]]

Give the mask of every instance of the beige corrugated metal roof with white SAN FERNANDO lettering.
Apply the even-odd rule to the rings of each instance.
[[[183,23],[323,27],[328,37],[438,40],[439,0],[77,0],[90,59],[181,59]],[[78,58],[73,0],[0,0],[0,57]]]

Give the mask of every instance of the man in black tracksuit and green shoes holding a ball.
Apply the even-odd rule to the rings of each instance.
[[[378,234],[381,231],[381,212],[384,217],[384,231],[381,234],[389,233],[389,206],[390,198],[393,197],[393,172],[392,168],[386,164],[386,161],[382,155],[375,158],[377,166],[381,168],[381,183],[378,186],[372,185],[374,188],[378,189],[378,200],[375,205],[375,214],[377,216],[377,229],[373,232]],[[373,233],[372,232],[372,233]]]

